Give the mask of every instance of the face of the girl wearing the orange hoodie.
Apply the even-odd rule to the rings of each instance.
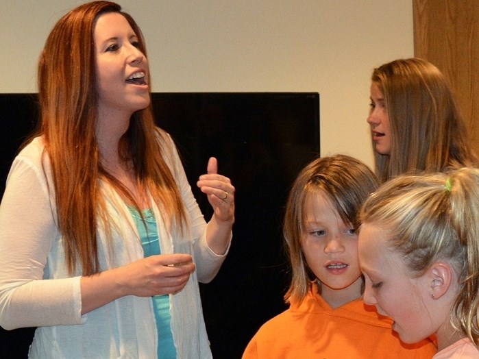
[[[357,299],[363,279],[354,228],[343,223],[321,190],[308,196],[305,214],[302,249],[308,267],[321,281],[323,299],[330,305]]]

